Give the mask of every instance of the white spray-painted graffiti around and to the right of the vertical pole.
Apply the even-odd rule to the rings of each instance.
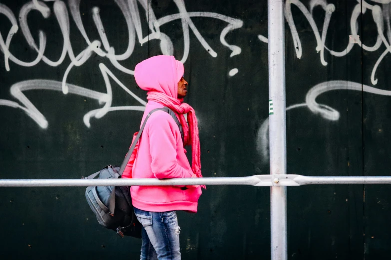
[[[377,68],[379,64],[382,62],[384,57],[391,52],[390,43],[391,43],[391,21],[390,21],[390,13],[391,13],[391,0],[373,0],[376,4],[372,5],[365,0],[361,1],[358,0],[358,3],[354,7],[354,10],[352,12],[352,16],[350,19],[350,33],[351,35],[356,39],[358,45],[362,47],[365,51],[374,52],[381,48],[382,44],[386,46],[386,50],[381,54],[381,56],[378,58],[377,62],[375,63],[372,73],[371,73],[371,83],[373,85],[376,85],[378,80],[375,78]],[[377,3],[383,4],[383,9]],[[303,49],[299,37],[299,33],[296,29],[296,25],[293,19],[292,11],[291,11],[291,5],[294,4],[297,6],[300,11],[304,14],[308,22],[310,23],[311,29],[314,33],[317,46],[315,50],[317,52],[320,52],[320,59],[321,64],[324,66],[327,66],[328,63],[325,60],[325,50],[329,52],[331,55],[336,57],[342,57],[345,55],[348,55],[349,52],[353,49],[355,43],[349,42],[348,46],[343,51],[334,51],[328,48],[325,44],[326,37],[327,37],[327,31],[329,29],[330,20],[332,18],[332,14],[335,11],[334,4],[328,4],[326,0],[311,0],[310,1],[310,8],[307,8],[301,1],[299,0],[287,0],[285,3],[285,18],[289,24],[290,32],[293,37],[293,43],[296,51],[296,57],[301,58],[303,54]],[[313,18],[312,12],[316,6],[321,6],[323,10],[326,12],[324,22],[323,22],[323,28],[322,28],[322,35],[315,23],[315,20]],[[377,25],[377,40],[376,43],[373,46],[367,46],[362,41],[360,41],[358,35],[359,25],[358,25],[358,19],[361,14],[366,13],[367,10],[371,10],[373,21]],[[384,34],[385,30],[385,22],[387,26],[387,38]],[[348,35],[347,35],[348,37]],[[258,35],[258,38],[260,41],[268,43],[268,39],[262,35]],[[329,81],[329,82],[323,82],[320,83],[313,88],[310,89],[310,91],[307,93],[306,96],[306,102],[301,104],[295,104],[291,105],[286,108],[286,111],[290,111],[292,109],[296,108],[308,108],[311,112],[313,112],[316,115],[321,116],[322,118],[330,121],[338,121],[340,118],[340,113],[336,111],[335,109],[324,105],[324,104],[318,104],[316,102],[316,98],[328,91],[333,90],[357,90],[357,91],[364,91],[372,94],[377,95],[384,95],[384,96],[391,96],[391,91],[387,90],[380,90],[374,87],[370,87],[367,85],[362,85],[355,82],[350,81]],[[258,130],[257,135],[257,151],[258,154],[262,156],[263,163],[267,163],[269,160],[269,119],[266,119],[262,124],[261,127]]]

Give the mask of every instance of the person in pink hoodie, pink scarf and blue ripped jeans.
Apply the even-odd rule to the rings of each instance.
[[[136,65],[134,77],[137,85],[148,91],[142,122],[150,111],[168,107],[180,126],[164,111],[151,114],[139,140],[132,178],[202,177],[197,118],[194,109],[183,103],[189,91],[183,64],[173,56],[154,56]],[[192,146],[191,166],[185,145]],[[143,226],[140,259],[180,260],[176,211],[196,213],[201,187],[131,186],[130,194],[134,213]]]

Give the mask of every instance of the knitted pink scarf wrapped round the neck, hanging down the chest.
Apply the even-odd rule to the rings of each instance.
[[[202,177],[200,138],[198,136],[198,124],[194,109],[189,104],[181,103],[179,99],[171,98],[162,92],[148,91],[147,94],[149,101],[160,103],[179,115],[183,129],[184,145],[191,145],[191,169],[197,177]],[[186,124],[184,114],[187,114],[189,126]],[[202,187],[205,188],[205,186]]]

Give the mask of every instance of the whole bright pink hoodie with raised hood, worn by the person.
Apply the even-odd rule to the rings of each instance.
[[[143,90],[155,90],[177,98],[183,71],[183,64],[173,56],[160,55],[137,64],[134,77]],[[141,123],[156,108],[163,108],[163,105],[148,102]],[[149,117],[140,137],[132,178],[190,178],[193,172],[185,152],[175,121],[166,112],[157,111]],[[132,186],[130,194],[133,206],[141,210],[197,212],[201,187]]]

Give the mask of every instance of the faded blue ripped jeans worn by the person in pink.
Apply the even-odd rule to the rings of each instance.
[[[140,260],[180,260],[178,218],[175,211],[151,212],[134,208],[141,223]]]

